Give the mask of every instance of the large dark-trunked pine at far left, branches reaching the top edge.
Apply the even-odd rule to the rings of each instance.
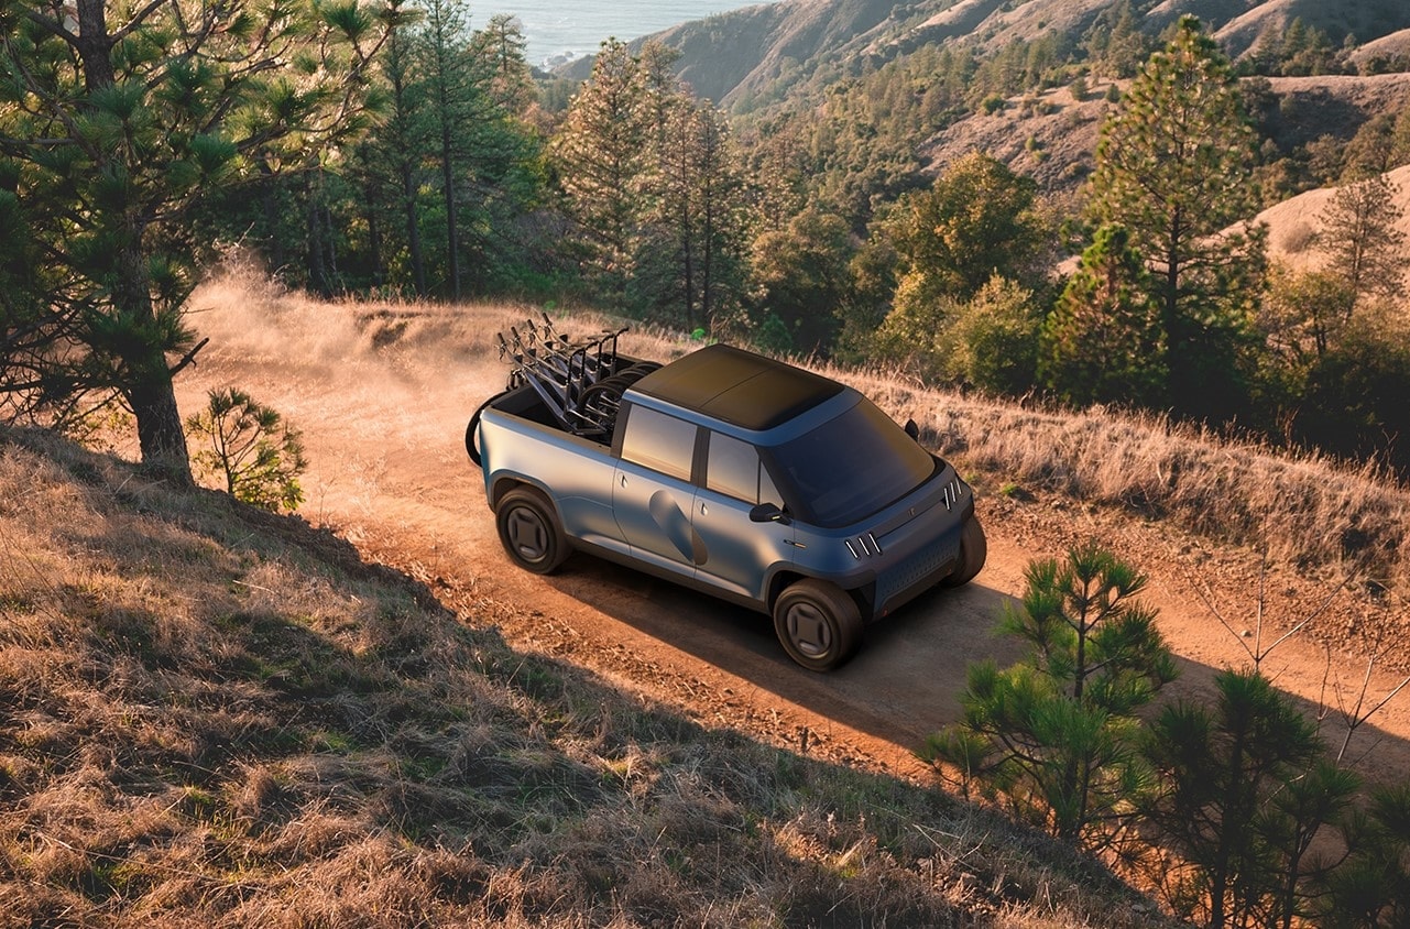
[[[48,330],[80,347],[69,396],[120,395],[142,460],[179,482],[189,210],[365,127],[365,75],[398,16],[396,0],[0,3],[0,186],[17,233],[0,252],[44,279]]]

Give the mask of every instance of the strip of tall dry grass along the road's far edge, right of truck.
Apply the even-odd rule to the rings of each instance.
[[[1410,489],[1376,465],[1230,441],[1152,414],[1042,412],[883,374],[833,374],[893,414],[914,416],[925,441],[990,492],[1042,489],[1117,506],[1265,550],[1303,572],[1410,591]]]

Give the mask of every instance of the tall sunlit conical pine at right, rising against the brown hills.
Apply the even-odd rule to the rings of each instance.
[[[1090,219],[1124,226],[1152,273],[1166,336],[1166,402],[1232,416],[1262,288],[1258,145],[1228,62],[1193,17],[1151,56],[1103,127]]]

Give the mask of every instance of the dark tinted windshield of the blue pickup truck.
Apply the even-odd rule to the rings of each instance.
[[[784,499],[825,529],[876,513],[935,472],[935,458],[866,398],[771,453]]]

